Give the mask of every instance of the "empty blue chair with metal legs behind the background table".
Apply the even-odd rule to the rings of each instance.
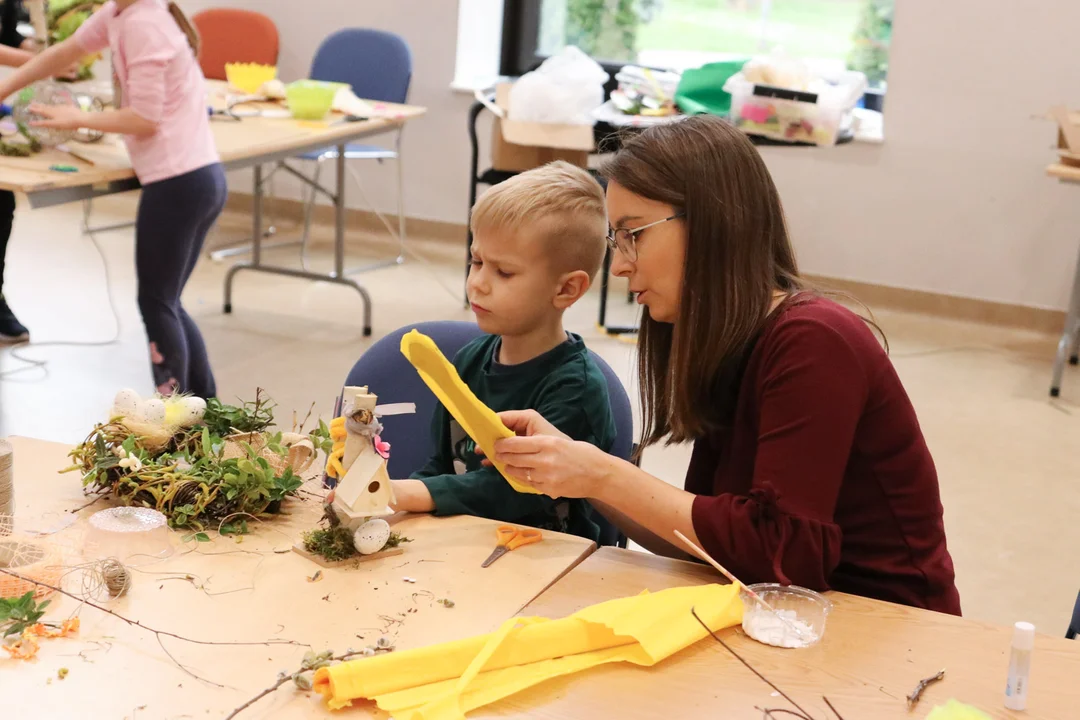
[[[367,28],[347,28],[326,38],[311,63],[312,80],[343,82],[352,86],[356,97],[380,103],[404,104],[408,100],[408,89],[413,81],[413,53],[408,44],[392,32]],[[346,160],[394,160],[397,165],[397,257],[384,264],[401,263],[405,253],[405,177],[401,161],[402,127],[394,131],[393,149],[377,145],[349,144]],[[303,234],[300,236],[301,254],[307,255],[311,234],[311,218],[319,192],[322,164],[337,160],[336,147],[313,150],[298,155],[299,160],[315,162],[315,173],[307,182],[310,194],[303,208]],[[375,208],[372,208],[373,210]],[[378,214],[378,210],[376,210]],[[382,215],[379,214],[379,218]],[[387,230],[393,234],[390,223],[383,220]]]

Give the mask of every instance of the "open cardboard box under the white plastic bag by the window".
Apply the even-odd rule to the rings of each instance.
[[[492,123],[491,167],[521,173],[555,160],[589,166],[589,153],[595,149],[591,125],[509,120],[510,83],[496,87],[495,103],[501,116]]]

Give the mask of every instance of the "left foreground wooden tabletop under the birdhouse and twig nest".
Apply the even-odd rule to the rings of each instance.
[[[85,503],[78,475],[56,473],[68,464],[66,446],[26,438],[11,443],[16,530],[54,524],[67,510]],[[100,502],[82,511],[76,525],[41,542],[60,547],[65,565],[75,565],[90,540],[85,517],[104,506]],[[543,542],[482,570],[481,562],[495,545],[496,522],[411,516],[392,520],[396,530],[413,539],[403,555],[322,570],[321,580],[309,582],[319,566],[288,548],[301,531],[315,526],[320,503],[310,498],[289,500],[285,511],[242,542],[217,538],[183,543],[181,533],[174,533],[174,555],[140,565],[130,593],[106,607],[192,639],[285,638],[310,643],[316,651],[343,652],[386,635],[396,648],[406,649],[494,630],[594,548],[580,538],[545,532]],[[456,604],[445,608],[436,602],[440,598]],[[46,619],[66,617],[77,604],[56,597]],[[10,660],[0,652],[0,717],[59,720],[75,717],[72,708],[83,708],[79,717],[219,720],[272,684],[280,670],[297,669],[307,650],[162,639],[177,662],[225,685],[220,688],[177,667],[152,633],[93,608],[82,608],[80,616],[79,635],[42,640],[35,662]],[[70,670],[63,681],[57,679],[60,667]],[[316,697],[289,684],[240,717],[332,715]]]

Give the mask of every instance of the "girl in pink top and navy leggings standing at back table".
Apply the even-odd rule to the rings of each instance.
[[[43,127],[87,127],[124,136],[143,185],[135,221],[138,307],[162,393],[216,394],[206,347],[180,293],[225,206],[225,171],[214,146],[199,39],[162,0],[112,0],[58,43],[0,82],[0,98],[106,47],[112,53],[114,110],[35,106]]]

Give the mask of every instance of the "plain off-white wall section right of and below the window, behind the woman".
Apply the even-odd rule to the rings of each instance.
[[[805,270],[1064,309],[1080,185],[1044,174],[1080,106],[1075,0],[896,3],[886,142],[767,148]]]

